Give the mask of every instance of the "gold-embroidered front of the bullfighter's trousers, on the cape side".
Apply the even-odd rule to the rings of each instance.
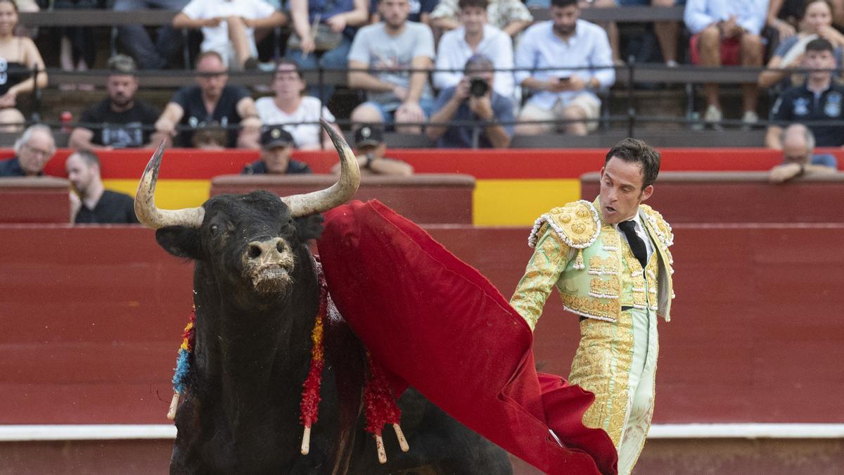
[[[583,414],[584,425],[607,431],[618,447],[627,413],[633,358],[630,312],[621,312],[617,323],[584,319],[580,325],[582,336],[569,381],[595,395],[595,402]]]

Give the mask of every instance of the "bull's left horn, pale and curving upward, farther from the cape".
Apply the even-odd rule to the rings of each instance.
[[[162,140],[158,150],[155,150],[153,157],[149,159],[141,181],[138,182],[138,192],[135,194],[135,216],[138,216],[141,224],[153,229],[165,226],[200,227],[205,216],[205,209],[202,206],[182,210],[159,210],[155,207],[155,183],[158,183],[164,149],[165,142]]]

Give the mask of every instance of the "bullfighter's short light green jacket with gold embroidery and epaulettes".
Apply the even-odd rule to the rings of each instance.
[[[640,205],[639,214],[659,258],[652,259],[646,275],[624,265],[630,249],[593,203],[580,200],[539,216],[527,241],[535,250],[511,298],[513,308],[533,328],[557,287],[565,309],[584,317],[614,322],[621,307],[630,305],[647,306],[668,321],[674,298],[674,260],[668,247],[674,234],[650,206]],[[650,285],[645,285],[646,278]]]

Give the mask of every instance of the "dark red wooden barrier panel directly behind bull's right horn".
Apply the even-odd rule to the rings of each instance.
[[[211,195],[244,194],[265,189],[279,196],[328,188],[333,175],[225,175],[211,180]],[[472,224],[474,177],[456,174],[418,174],[410,177],[360,177],[354,199],[378,199],[408,219],[421,223]]]

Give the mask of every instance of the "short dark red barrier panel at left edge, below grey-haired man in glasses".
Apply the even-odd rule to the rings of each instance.
[[[66,223],[69,191],[62,178],[0,178],[0,223]]]

